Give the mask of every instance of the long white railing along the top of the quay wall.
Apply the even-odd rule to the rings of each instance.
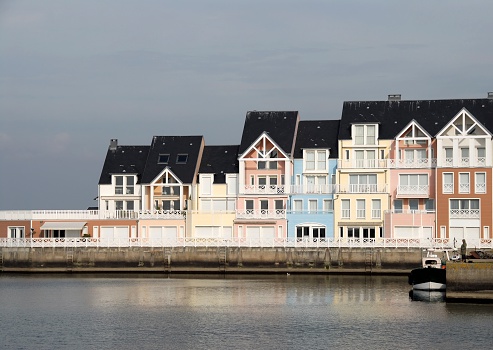
[[[493,249],[493,239],[468,239],[469,249]],[[292,248],[434,248],[452,249],[453,239],[427,238],[1,238],[4,248],[89,247],[292,247]],[[473,248],[474,247],[474,248]]]

